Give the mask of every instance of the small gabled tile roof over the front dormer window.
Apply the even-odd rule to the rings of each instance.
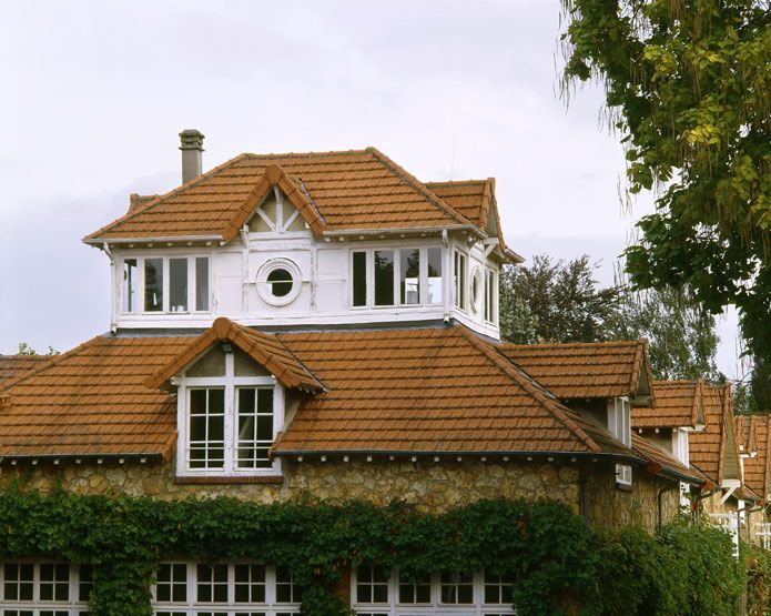
[[[311,374],[297,359],[284,346],[276,336],[263,334],[256,330],[244,327],[221,316],[203,334],[190,342],[190,344],[150,376],[145,384],[148,387],[158,388],[169,378],[182,372],[216,342],[229,341],[235,344],[256,363],[270,371],[285,387],[294,387],[306,392],[318,392],[324,386]]]

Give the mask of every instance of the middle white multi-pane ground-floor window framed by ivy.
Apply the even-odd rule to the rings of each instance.
[[[288,569],[252,562],[161,563],[152,588],[156,616],[300,616]]]

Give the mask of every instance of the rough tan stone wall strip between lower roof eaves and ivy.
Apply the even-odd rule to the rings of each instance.
[[[328,462],[284,461],[284,478],[274,484],[186,484],[174,475],[173,463],[116,464],[63,463],[54,466],[0,467],[0,486],[17,478],[24,485],[48,492],[55,485],[77,494],[110,491],[129,496],[184,498],[186,496],[234,496],[258,503],[307,498],[368,501],[377,505],[394,499],[422,511],[444,512],[480,498],[550,498],[581,513],[580,476],[588,477],[589,515],[592,525],[640,524],[653,531],[658,524],[658,491],[672,482],[635,471],[631,491],[616,486],[610,464],[557,462],[433,462],[430,460],[386,461],[331,460]],[[677,514],[678,492],[663,493],[665,522]]]

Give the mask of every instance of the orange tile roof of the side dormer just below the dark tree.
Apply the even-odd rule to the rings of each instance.
[[[501,344],[500,351],[560,400],[648,395],[647,341]]]

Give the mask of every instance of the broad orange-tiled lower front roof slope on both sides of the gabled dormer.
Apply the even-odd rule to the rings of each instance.
[[[642,462],[461,326],[270,335],[231,325],[233,336],[258,336],[262,349],[262,339],[275,339],[308,383],[324,384],[304,398],[277,454],[548,453]],[[158,375],[202,337],[99,336],[6,382],[0,456],[169,456],[175,398],[158,388]]]

